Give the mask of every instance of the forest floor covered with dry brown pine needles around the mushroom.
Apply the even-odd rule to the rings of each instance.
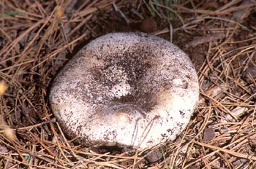
[[[167,2],[1,1],[0,168],[256,168],[256,2]],[[93,149],[56,122],[54,76],[84,44],[116,31],[161,36],[195,64],[200,101],[176,141],[148,152]]]

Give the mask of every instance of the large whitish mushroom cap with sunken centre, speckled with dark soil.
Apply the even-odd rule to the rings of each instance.
[[[192,62],[165,39],[114,33],[94,39],[56,76],[53,114],[87,146],[147,149],[174,140],[198,100]]]

